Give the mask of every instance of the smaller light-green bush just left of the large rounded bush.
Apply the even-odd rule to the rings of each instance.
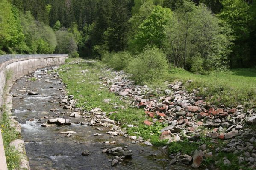
[[[123,70],[134,57],[128,51],[111,53],[108,65],[115,70]]]

